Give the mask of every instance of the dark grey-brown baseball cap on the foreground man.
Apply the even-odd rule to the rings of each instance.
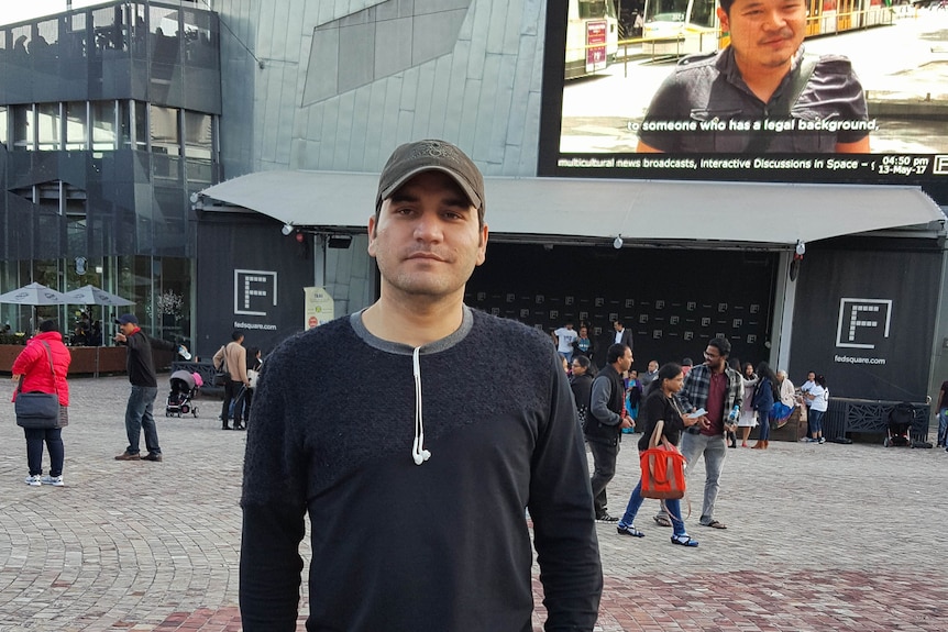
[[[385,163],[378,178],[375,210],[405,182],[422,171],[443,171],[467,195],[477,213],[484,217],[484,177],[464,152],[447,141],[416,141],[398,146]]]

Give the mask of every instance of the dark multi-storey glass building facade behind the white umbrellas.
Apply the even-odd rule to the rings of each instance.
[[[144,0],[0,27],[3,291],[95,285],[134,301],[123,311],[152,335],[188,344],[190,196],[220,180],[219,35],[213,12]],[[37,318],[76,333],[81,310],[108,323],[114,309]],[[0,326],[30,331],[32,318],[0,304]]]

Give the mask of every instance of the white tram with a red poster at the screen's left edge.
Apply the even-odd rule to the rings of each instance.
[[[615,0],[570,0],[566,22],[566,79],[605,70],[619,49]]]

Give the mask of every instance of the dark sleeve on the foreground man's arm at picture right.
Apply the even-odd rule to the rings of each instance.
[[[547,631],[592,630],[603,591],[593,497],[576,409],[559,357],[550,359],[551,408],[532,459],[530,515]]]

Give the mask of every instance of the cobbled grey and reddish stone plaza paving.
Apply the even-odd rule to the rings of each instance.
[[[220,430],[217,399],[198,399],[197,419],[166,419],[158,380],[159,464],[113,461],[126,444],[124,377],[70,381],[64,488],[23,484],[12,382],[0,382],[0,632],[241,629],[245,433]],[[672,546],[651,520],[655,501],[637,521],[643,539],[598,526],[597,630],[948,630],[946,472],[943,450],[881,442],[731,450],[716,514],[727,530],[697,525],[703,476],[692,480],[697,548]],[[627,441],[613,513],[637,478]]]

